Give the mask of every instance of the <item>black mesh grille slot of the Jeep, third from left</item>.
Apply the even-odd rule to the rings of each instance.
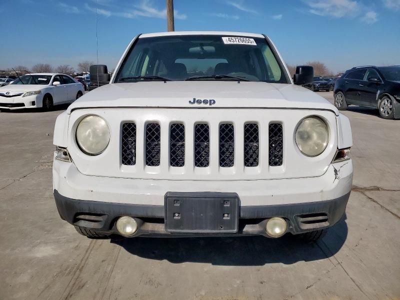
[[[184,125],[171,124],[169,134],[169,163],[184,166]]]

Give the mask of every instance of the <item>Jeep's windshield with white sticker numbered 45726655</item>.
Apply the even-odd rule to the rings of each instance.
[[[227,38],[220,35],[139,38],[123,60],[115,82],[190,78],[287,83],[264,38]]]

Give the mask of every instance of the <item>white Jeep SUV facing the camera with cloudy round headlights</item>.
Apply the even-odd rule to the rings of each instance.
[[[86,236],[321,236],[352,184],[348,118],[244,32],[133,38],[55,122],[53,190]],[[293,82],[294,80],[294,82]]]

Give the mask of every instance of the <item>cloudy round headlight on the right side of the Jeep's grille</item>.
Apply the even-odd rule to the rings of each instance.
[[[295,141],[298,149],[307,156],[317,156],[325,150],[329,141],[326,123],[317,116],[307,116],[297,125]]]

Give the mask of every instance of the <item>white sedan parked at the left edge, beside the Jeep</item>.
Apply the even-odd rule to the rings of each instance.
[[[72,77],[57,73],[33,73],[19,76],[0,87],[0,109],[20,109],[71,103],[83,95],[83,85]]]

